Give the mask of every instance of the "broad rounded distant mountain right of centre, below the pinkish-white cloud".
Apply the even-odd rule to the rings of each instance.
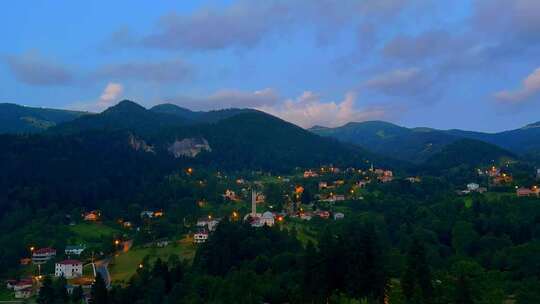
[[[409,129],[383,121],[348,123],[337,128],[311,128],[315,134],[353,143],[401,160],[422,162],[458,139],[434,129]]]

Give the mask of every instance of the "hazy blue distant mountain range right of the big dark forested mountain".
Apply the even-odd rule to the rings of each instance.
[[[540,151],[540,123],[500,133],[405,128],[383,121],[348,123],[337,128],[314,127],[315,134],[359,145],[369,151],[422,163],[460,139],[473,139],[506,149],[516,155]]]

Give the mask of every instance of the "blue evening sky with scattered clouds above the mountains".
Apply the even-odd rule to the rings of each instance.
[[[302,127],[540,121],[538,0],[7,1],[0,102],[256,108]]]

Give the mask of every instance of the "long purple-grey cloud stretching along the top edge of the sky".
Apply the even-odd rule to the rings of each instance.
[[[250,48],[265,37],[288,35],[313,27],[319,43],[347,25],[394,16],[418,0],[240,0],[226,7],[205,6],[190,14],[164,15],[155,29],[136,34],[129,29],[113,33],[108,45],[168,50]],[[301,26],[298,26],[301,25]]]

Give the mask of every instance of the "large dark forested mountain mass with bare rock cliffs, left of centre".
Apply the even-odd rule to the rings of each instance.
[[[127,100],[102,113],[82,115],[51,126],[35,135],[39,140],[35,137],[25,140],[25,136],[5,136],[1,143],[10,146],[10,141],[15,141],[17,144],[11,144],[12,147],[27,151],[19,155],[6,151],[9,157],[15,158],[12,163],[32,158],[33,151],[43,151],[57,159],[62,151],[56,149],[65,149],[65,142],[77,144],[72,150],[77,146],[87,150],[73,150],[70,155],[74,156],[99,156],[103,151],[90,153],[88,150],[103,149],[113,153],[110,150],[118,148],[118,153],[125,157],[130,157],[131,153],[146,153],[156,159],[176,157],[175,161],[183,164],[233,170],[278,171],[321,164],[367,166],[368,160],[380,164],[387,161],[360,147],[317,136],[256,110],[193,112],[174,105],[146,109]],[[26,143],[33,147],[22,147]],[[131,152],[126,153],[128,146]],[[68,163],[80,162],[80,158],[70,159],[68,155],[65,158]]]

